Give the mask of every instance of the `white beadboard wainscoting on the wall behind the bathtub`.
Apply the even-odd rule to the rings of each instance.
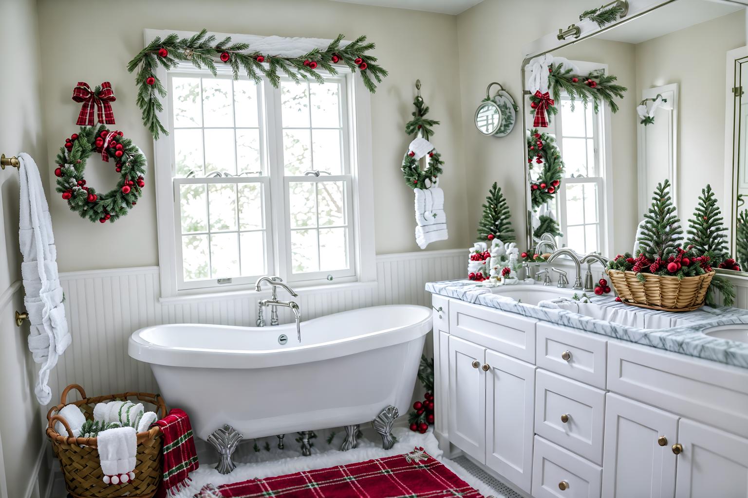
[[[465,276],[467,255],[467,249],[379,255],[376,284],[302,291],[296,301],[304,320],[374,305],[428,306],[426,282]],[[73,343],[49,377],[53,403],[73,383],[82,385],[89,396],[125,390],[157,392],[150,367],[127,355],[130,334],[142,327],[164,323],[254,326],[257,320],[254,293],[159,302],[158,267],[61,273],[60,281]],[[289,320],[289,313],[281,312],[281,322]]]

